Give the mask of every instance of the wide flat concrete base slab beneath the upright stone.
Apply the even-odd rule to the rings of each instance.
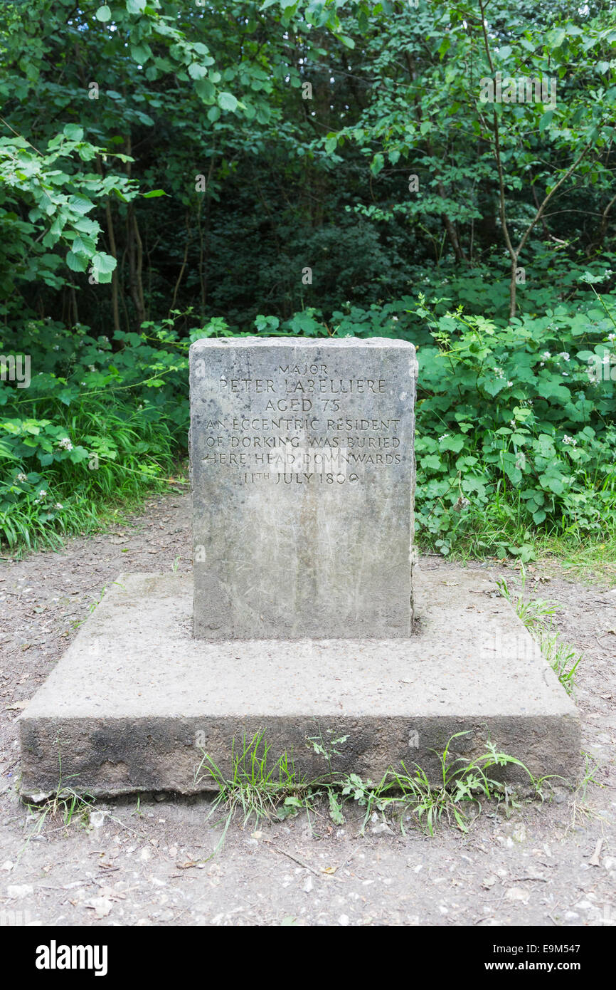
[[[488,740],[535,776],[579,769],[572,700],[507,602],[477,572],[414,571],[409,640],[209,644],[192,637],[185,575],[118,578],[20,717],[22,793],[59,780],[95,796],[212,789],[203,751],[229,772],[233,738],[264,731],[273,759],[326,769],[309,737],[337,739],[334,769],[380,779]],[[524,782],[511,765],[501,779]]]

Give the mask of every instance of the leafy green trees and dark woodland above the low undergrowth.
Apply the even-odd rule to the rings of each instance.
[[[444,0],[5,0],[6,312],[61,309],[95,334],[170,304],[234,329],[266,307],[329,323],[342,300],[400,299],[455,259],[463,280],[481,264],[502,280],[497,317],[501,206],[513,242],[534,239],[518,307],[540,289],[553,305],[535,241],[590,259],[613,247],[614,12],[498,0],[486,14],[491,66],[478,11]],[[556,105],[482,103],[496,71],[556,80]]]

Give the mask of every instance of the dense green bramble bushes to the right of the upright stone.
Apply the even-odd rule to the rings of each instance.
[[[416,523],[448,553],[527,559],[533,532],[599,538],[616,522],[614,382],[592,375],[614,349],[605,299],[497,326],[462,307],[416,315],[433,344],[419,347]],[[595,364],[596,366],[596,364]]]

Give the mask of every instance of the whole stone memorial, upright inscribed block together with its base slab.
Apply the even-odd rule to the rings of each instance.
[[[194,579],[113,582],[20,716],[22,794],[60,755],[95,796],[209,790],[204,753],[232,775],[256,734],[320,778],[321,731],[372,780],[410,760],[442,786],[438,753],[488,743],[507,781],[576,779],[572,699],[493,581],[418,570],[410,635],[416,373],[401,341],[191,347]]]

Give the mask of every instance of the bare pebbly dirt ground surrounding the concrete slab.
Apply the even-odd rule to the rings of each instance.
[[[20,712],[105,585],[121,571],[189,571],[190,545],[189,498],[168,495],[104,536],[0,561],[0,924],[616,924],[616,589],[539,566],[527,590],[559,603],[558,628],[583,653],[574,697],[596,781],[585,789],[508,820],[484,807],[467,835],[403,837],[379,820],[362,837],[352,809],[343,827],[324,808],[258,831],[234,824],[209,860],[220,829],[207,798],[98,802],[88,829],[47,820],[33,835],[18,795]],[[449,564],[430,555],[420,566]]]

